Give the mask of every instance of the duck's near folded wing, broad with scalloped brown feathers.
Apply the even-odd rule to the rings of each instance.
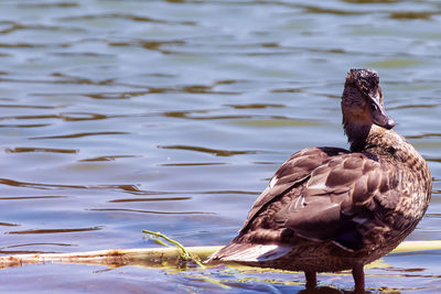
[[[334,156],[311,173],[301,195],[273,220],[297,236],[333,241],[348,250],[380,243],[377,239],[389,228],[376,215],[395,207],[406,193],[398,192],[397,185],[394,168],[375,159],[363,153]]]

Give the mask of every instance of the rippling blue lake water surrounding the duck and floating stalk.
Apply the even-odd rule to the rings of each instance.
[[[441,2],[0,2],[0,252],[228,242],[268,178],[308,146],[347,148],[340,97],[378,70],[389,115],[428,160],[441,240]],[[373,292],[441,292],[441,251],[389,254]],[[125,266],[1,270],[2,292],[297,293],[303,275]],[[326,293],[349,275],[320,275]]]

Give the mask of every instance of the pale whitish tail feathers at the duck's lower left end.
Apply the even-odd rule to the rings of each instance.
[[[213,253],[205,263],[213,261],[262,262],[276,260],[291,250],[289,246],[230,243]]]

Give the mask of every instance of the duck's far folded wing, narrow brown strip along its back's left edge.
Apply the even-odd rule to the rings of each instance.
[[[314,170],[329,162],[332,157],[346,153],[348,153],[347,150],[338,148],[311,148],[291,155],[279,167],[267,188],[256,199],[240,232],[244,232],[256,215],[277,196],[306,181]]]

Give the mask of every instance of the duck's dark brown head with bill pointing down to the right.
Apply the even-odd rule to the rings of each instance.
[[[384,108],[378,73],[374,69],[351,69],[342,96],[343,124],[351,142],[365,137],[373,124],[390,130],[394,120]]]

